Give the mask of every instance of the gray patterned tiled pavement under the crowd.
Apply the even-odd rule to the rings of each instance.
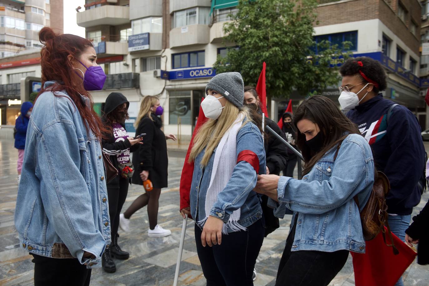
[[[170,152],[169,155],[169,188],[162,190],[158,223],[170,229],[172,235],[166,238],[148,238],[146,209],[138,211],[131,217],[132,231],[119,232],[119,243],[123,250],[130,252],[130,259],[115,260],[118,270],[113,274],[105,273],[100,268],[93,269],[91,286],[172,285],[182,226],[182,218],[178,214],[178,184],[184,156],[177,151]],[[33,285],[34,267],[31,256],[19,248],[13,224],[17,156],[13,142],[0,140],[0,285]],[[141,193],[141,187],[131,186],[124,209]],[[428,198],[429,192],[415,208],[415,212],[423,207]],[[281,220],[280,229],[265,238],[257,261],[258,276],[255,285],[274,285],[278,262],[289,232],[290,218],[285,216]],[[205,285],[196,255],[193,226],[193,222],[188,220],[179,285]],[[429,285],[429,267],[414,262],[404,278],[405,285]],[[354,285],[350,257],[330,285]]]

